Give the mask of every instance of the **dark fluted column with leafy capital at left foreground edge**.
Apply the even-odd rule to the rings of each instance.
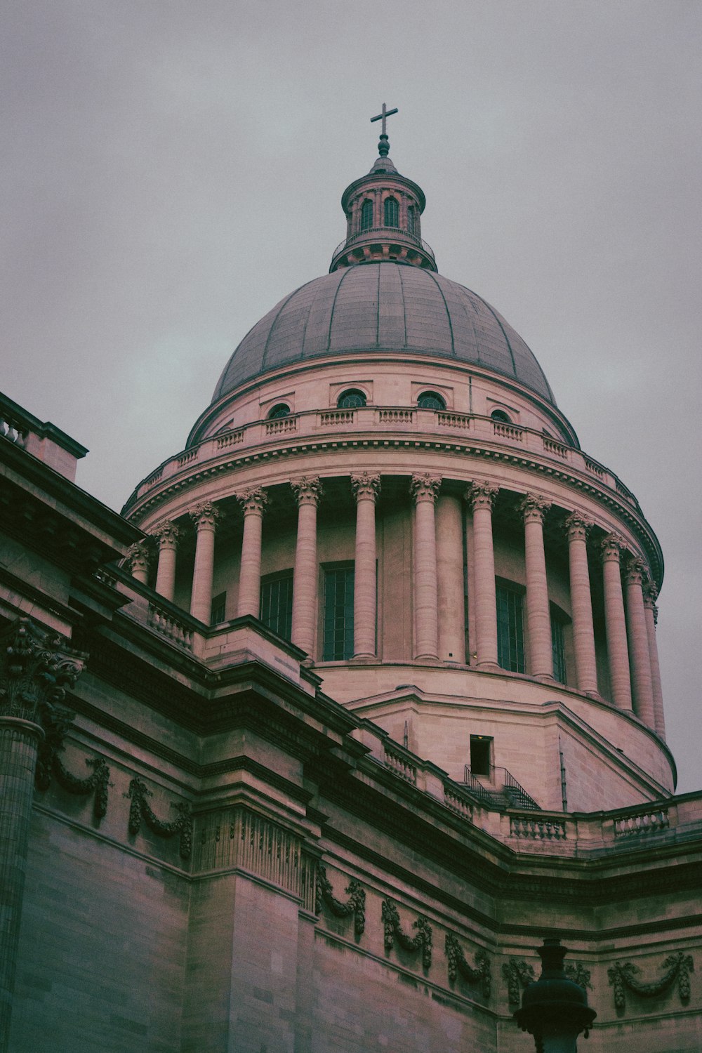
[[[41,711],[60,707],[84,659],[29,618],[0,637],[0,1053],[9,1041]]]

